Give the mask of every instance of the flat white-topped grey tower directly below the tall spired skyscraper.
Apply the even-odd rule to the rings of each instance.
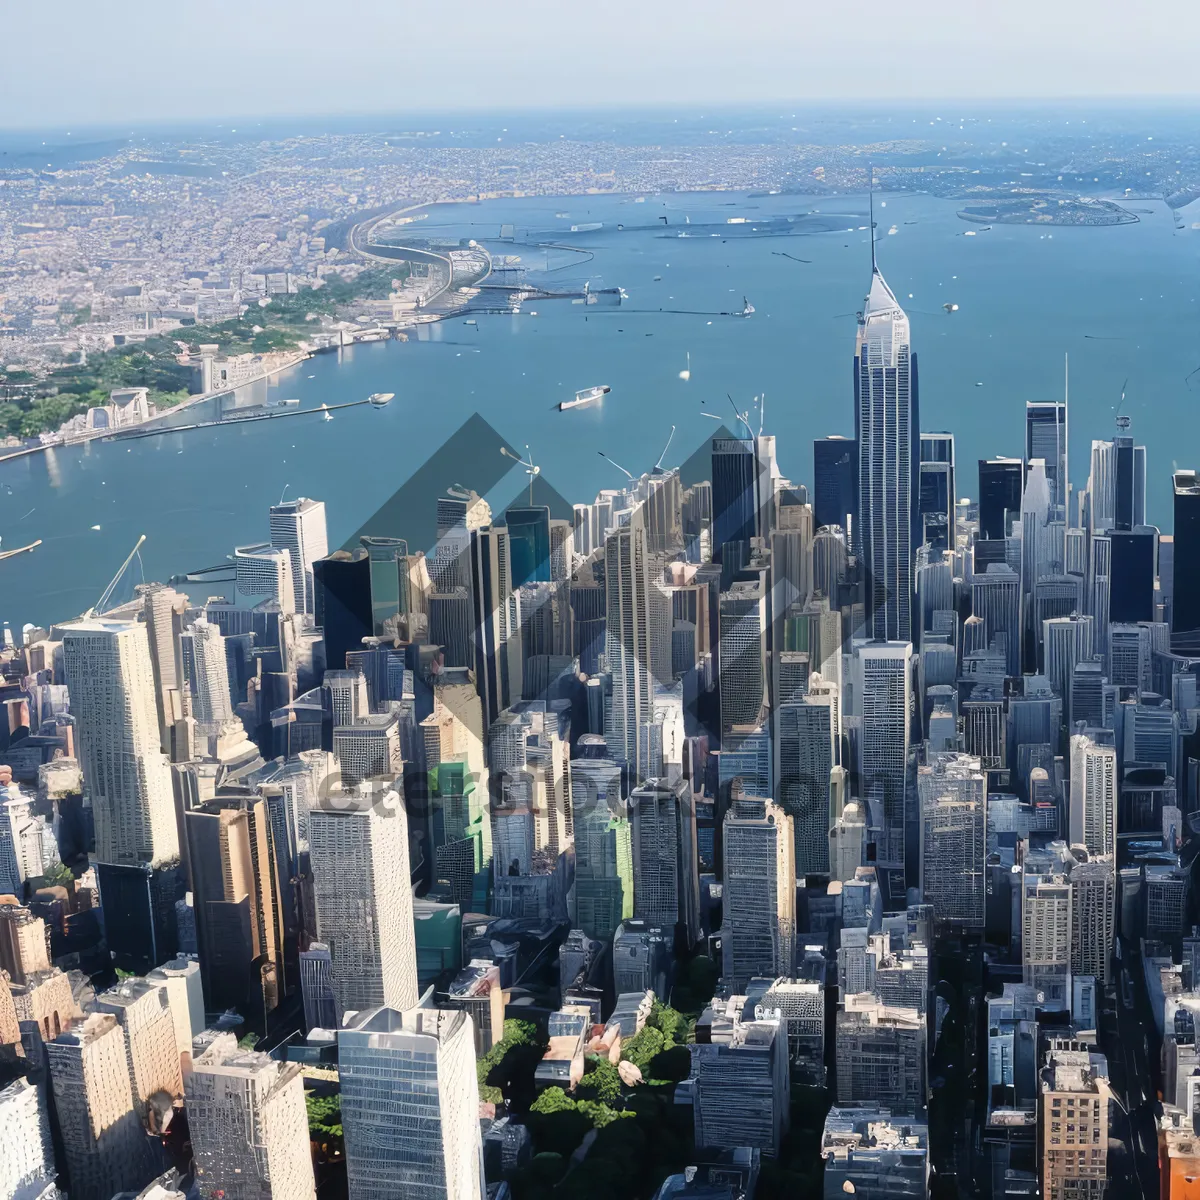
[[[863,722],[858,751],[859,790],[866,800],[869,824],[880,830],[877,862],[900,868],[902,876],[912,646],[908,642],[866,642],[856,648],[853,670],[854,707]],[[902,890],[901,887],[901,895]],[[899,896],[890,895],[889,902],[899,902]]]

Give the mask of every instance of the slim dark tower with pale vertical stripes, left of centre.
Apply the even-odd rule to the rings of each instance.
[[[512,584],[510,546],[509,530],[497,526],[470,535],[475,682],[488,722],[521,697],[521,600]]]

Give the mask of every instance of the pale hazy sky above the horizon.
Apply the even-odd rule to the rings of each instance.
[[[5,0],[0,126],[1182,96],[1189,0]]]

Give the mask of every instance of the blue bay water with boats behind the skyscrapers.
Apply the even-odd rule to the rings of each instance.
[[[955,433],[959,494],[974,493],[977,458],[1021,454],[1025,401],[1062,395],[1069,353],[1073,481],[1086,481],[1090,440],[1111,436],[1128,379],[1124,412],[1150,455],[1150,518],[1168,529],[1170,472],[1200,466],[1200,374],[1194,390],[1184,383],[1200,366],[1200,230],[1176,230],[1160,203],[1130,202],[1150,210],[1133,226],[996,226],[965,236],[977,227],[955,217],[953,202],[889,194],[877,203],[880,264],[912,318],[922,426]],[[752,222],[812,209],[841,215],[841,232],[674,236],[685,217]],[[665,462],[682,462],[719,428],[703,412],[732,420],[726,392],[740,409],[764,394],[781,467],[806,481],[812,439],[853,432],[853,314],[869,272],[868,235],[859,229],[865,214],[865,197],[731,193],[436,209],[416,227],[422,236],[474,236],[494,253],[548,266],[547,283],[619,286],[629,299],[617,310],[548,300],[527,304],[536,317],[443,322],[422,340],[318,356],[239,398],[298,396],[314,407],[396,392],[382,410],[94,443],[0,464],[4,546],[43,539],[36,552],[0,563],[0,619],[46,623],[94,604],[140,533],[148,535],[146,578],[218,563],[234,545],[265,538],[266,509],[284,486],[290,496],[325,500],[337,545],[476,412],[514,445],[528,443],[562,494],[590,500],[623,479],[598,450],[636,474],[655,462],[674,424]],[[605,228],[568,232],[594,221]],[[556,240],[587,253],[490,240],[504,222],[516,224],[518,240],[546,240],[554,230]],[[617,223],[653,228],[617,232]],[[898,232],[889,235],[893,224]],[[756,308],[749,319],[656,311],[728,311],[740,308],[743,295]],[[944,302],[959,311],[946,314]],[[691,379],[683,382],[688,354]],[[612,388],[601,407],[551,410],[592,384]],[[510,499],[523,478],[514,469],[496,498]],[[131,574],[140,577],[138,569]]]

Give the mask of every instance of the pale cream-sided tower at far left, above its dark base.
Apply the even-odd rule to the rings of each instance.
[[[62,629],[96,858],[121,865],[173,862],[179,858],[175,802],[158,744],[146,629],[102,619]]]

